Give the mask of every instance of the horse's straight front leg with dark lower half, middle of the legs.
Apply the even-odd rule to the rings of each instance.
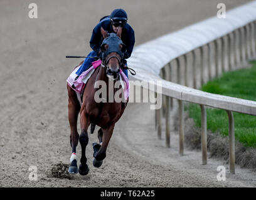
[[[89,172],[89,168],[87,165],[87,158],[85,156],[85,149],[89,141],[87,129],[88,129],[88,126],[90,125],[90,121],[88,119],[87,114],[85,113],[85,109],[83,109],[81,112],[80,125],[81,125],[81,134],[79,136],[79,142],[81,144],[82,155],[80,159],[81,164],[79,166],[78,171],[79,171],[79,174],[84,176],[84,175],[87,175]]]

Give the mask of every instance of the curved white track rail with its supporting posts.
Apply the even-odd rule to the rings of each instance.
[[[232,111],[256,115],[256,102],[199,91],[202,84],[225,71],[247,66],[255,58],[256,1],[227,12],[226,19],[211,17],[179,31],[141,44],[134,49],[129,66],[135,79],[162,80],[163,113],[166,116],[166,146],[169,147],[169,104],[179,102],[179,153],[184,146],[184,101],[200,104],[202,161],[206,160],[205,106],[225,109],[229,119],[230,173],[235,174],[235,133]],[[184,86],[183,86],[183,85]],[[189,88],[190,87],[190,88]],[[161,137],[161,111],[156,110],[156,127]]]

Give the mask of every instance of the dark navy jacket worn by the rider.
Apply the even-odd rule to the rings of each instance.
[[[100,32],[100,27],[103,27],[103,29],[109,33],[114,32],[109,16],[100,19],[99,24],[94,27],[92,31],[92,37],[90,39],[90,47],[92,47],[93,51],[97,52],[98,56],[100,51],[100,44],[102,44],[102,41],[104,39]],[[127,59],[131,56],[132,49],[135,43],[134,30],[128,23],[126,23],[125,26],[122,28],[121,39],[127,47],[127,52],[124,54],[124,59]]]

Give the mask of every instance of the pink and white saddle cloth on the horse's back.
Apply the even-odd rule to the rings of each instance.
[[[72,88],[72,89],[74,91],[76,91],[78,94],[81,94],[83,92],[83,89],[84,89],[85,84],[87,83],[88,79],[92,76],[95,69],[101,65],[101,63],[102,63],[101,60],[92,62],[92,66],[89,69],[87,69],[86,71],[84,71],[79,76],[79,78],[77,80],[75,80],[75,78],[77,77],[76,72],[78,71],[78,69],[80,68],[81,65],[78,66],[77,68],[75,68],[72,71],[72,73],[70,74],[70,76],[68,76],[68,78],[67,78],[67,82],[68,82],[69,86],[72,88],[72,85],[74,84],[75,88]],[[124,90],[124,98],[125,98],[125,100],[127,100],[127,98],[129,97],[129,93],[130,93],[130,84],[129,84],[129,79],[124,74],[122,69],[120,69],[120,81],[125,82],[125,84],[122,84],[122,88]]]

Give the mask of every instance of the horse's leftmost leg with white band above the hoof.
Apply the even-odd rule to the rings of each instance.
[[[77,174],[77,155],[76,148],[78,144],[79,134],[77,132],[77,118],[80,111],[80,103],[78,102],[75,91],[68,87],[68,121],[70,123],[70,145],[72,147],[72,155],[70,158],[70,168],[68,172]]]

